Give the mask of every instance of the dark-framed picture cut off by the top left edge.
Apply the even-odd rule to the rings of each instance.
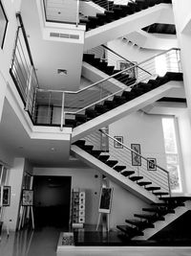
[[[0,0],[0,46],[1,46],[1,49],[3,49],[7,27],[8,27],[8,18],[4,10],[3,4]]]

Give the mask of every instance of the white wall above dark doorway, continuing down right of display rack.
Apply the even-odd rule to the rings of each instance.
[[[89,168],[34,168],[33,175],[72,176],[72,189],[80,188],[86,191],[85,222],[88,224],[96,224],[101,186],[101,175],[96,170]],[[98,175],[98,177],[95,177],[95,175]]]

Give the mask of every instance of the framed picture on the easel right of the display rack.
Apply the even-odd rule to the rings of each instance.
[[[99,198],[99,213],[110,213],[112,205],[113,188],[101,188]]]

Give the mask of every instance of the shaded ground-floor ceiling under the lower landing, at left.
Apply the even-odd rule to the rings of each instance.
[[[6,99],[0,123],[0,142],[1,149],[14,157],[29,159],[35,167],[85,166],[74,158],[69,161],[69,141],[31,139]]]

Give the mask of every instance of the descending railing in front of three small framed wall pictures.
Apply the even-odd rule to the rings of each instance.
[[[105,149],[101,145],[101,136],[107,138],[108,148]],[[93,145],[94,151],[102,151],[101,154],[109,154],[109,160],[117,160],[117,166],[125,166],[126,168],[121,171],[133,171],[134,174],[131,176],[138,176],[143,178],[138,179],[137,182],[148,181],[152,182],[146,187],[158,187],[159,190],[153,189],[153,192],[164,192],[168,193],[171,197],[170,189],[170,175],[168,171],[160,167],[157,162],[150,161],[148,158],[155,157],[155,153],[151,152],[151,156],[143,156],[138,151],[139,144],[136,144],[137,147],[134,147],[135,144],[131,144],[131,148],[125,143],[117,140],[117,138],[112,137],[107,132],[102,129],[97,130],[96,132],[86,136],[85,138],[86,145]],[[157,157],[155,157],[157,159]],[[161,159],[159,159],[161,160]],[[125,177],[125,178],[128,178]],[[152,191],[152,190],[151,190]]]

